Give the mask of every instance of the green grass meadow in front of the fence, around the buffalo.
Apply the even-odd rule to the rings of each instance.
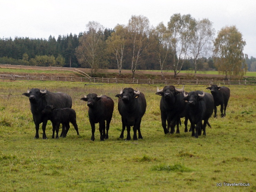
[[[227,116],[221,118],[218,107],[219,116],[209,119],[212,128],[207,127],[207,136],[196,139],[182,131],[183,124],[180,134],[165,135],[157,85],[136,85],[147,99],[141,122],[144,139],[125,141],[119,139],[115,95],[122,87],[134,86],[0,80],[0,191],[256,191],[255,86],[229,86]],[[66,138],[51,139],[48,121],[48,140],[42,140],[42,125],[40,138],[33,139],[29,100],[21,95],[28,87],[70,94],[80,136],[71,125]],[[205,88],[185,86],[188,92],[208,92]],[[98,130],[95,141],[90,141],[88,107],[80,100],[88,93],[106,94],[115,102],[109,139],[104,142]]]

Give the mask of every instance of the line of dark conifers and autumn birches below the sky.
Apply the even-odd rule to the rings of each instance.
[[[15,37],[0,39],[0,63],[37,66],[174,71],[219,70],[225,76],[243,76],[255,70],[255,58],[243,53],[246,42],[235,26],[223,27],[214,39],[209,19],[190,14],[171,16],[165,26],[150,26],[147,17],[131,16],[127,25],[104,28],[90,21],[86,31],[57,39]],[[248,63],[248,65],[246,64]]]

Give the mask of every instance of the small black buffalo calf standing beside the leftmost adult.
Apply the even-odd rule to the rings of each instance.
[[[59,128],[60,124],[65,125],[66,131],[63,133],[63,137],[66,137],[67,132],[70,128],[70,122],[75,128],[75,131],[77,135],[79,135],[78,127],[76,124],[76,113],[74,109],[71,108],[62,108],[62,109],[57,109],[53,105],[46,105],[42,113],[46,116],[48,116],[48,119],[52,121],[53,124],[53,136],[54,138],[54,133],[56,131],[56,139],[59,138]]]

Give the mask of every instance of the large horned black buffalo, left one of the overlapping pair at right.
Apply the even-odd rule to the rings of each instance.
[[[184,86],[182,89],[178,89],[173,85],[166,85],[163,89],[159,90],[157,87],[156,95],[161,96],[160,111],[162,126],[164,133],[167,134],[170,131],[174,133],[175,125],[177,125],[176,133],[180,133],[179,124],[180,118],[185,116],[186,102],[184,98]],[[167,121],[167,128],[166,128]],[[187,128],[188,118],[185,118],[185,132],[188,132]]]

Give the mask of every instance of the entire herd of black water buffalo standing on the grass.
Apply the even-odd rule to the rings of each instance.
[[[180,119],[185,117],[184,131],[188,132],[187,125],[189,120],[191,123],[189,131],[192,131],[192,136],[198,138],[202,131],[203,135],[206,135],[205,127],[206,125],[210,126],[208,119],[212,115],[213,110],[214,117],[217,116],[217,106],[221,106],[221,117],[226,115],[230,89],[217,85],[211,85],[210,87],[207,87],[207,89],[211,91],[211,94],[199,90],[188,93],[184,91],[184,86],[182,89],[178,89],[173,85],[167,85],[161,90],[157,87],[156,94],[161,96],[161,120],[165,134],[174,133],[175,126],[176,133],[180,133]],[[52,121],[52,138],[59,137],[58,132],[60,124],[62,124],[62,132],[60,136],[66,137],[70,128],[70,122],[73,124],[77,135],[79,135],[76,124],[76,113],[74,109],[71,109],[72,98],[70,95],[61,92],[52,93],[46,90],[46,88],[45,90],[40,90],[38,88],[29,90],[28,88],[27,93],[23,93],[22,95],[29,97],[30,109],[36,128],[35,138],[39,138],[39,125],[40,123],[43,123],[43,139],[47,139],[45,128],[48,120]],[[138,89],[122,88],[116,97],[119,98],[118,111],[122,119],[120,138],[124,138],[124,131],[126,128],[126,140],[131,140],[130,130],[132,126],[134,131],[133,139],[142,139],[140,123],[141,118],[146,112],[147,106],[144,94]],[[100,140],[104,141],[104,139],[108,139],[109,126],[114,110],[113,100],[106,95],[98,96],[95,93],[90,93],[81,98],[81,100],[87,102],[87,106],[89,107],[88,115],[92,128],[91,140],[94,141],[95,139],[94,132],[96,123],[99,123]]]

